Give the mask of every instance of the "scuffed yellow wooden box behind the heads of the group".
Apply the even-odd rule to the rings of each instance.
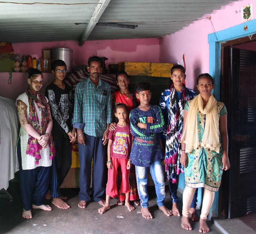
[[[126,71],[128,76],[170,77],[173,64],[163,63],[134,63],[118,64],[118,71]]]

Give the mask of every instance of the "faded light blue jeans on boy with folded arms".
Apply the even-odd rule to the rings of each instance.
[[[148,168],[139,166],[135,166],[135,168],[141,207],[146,208],[148,207]],[[156,203],[159,207],[164,206],[164,173],[161,160],[152,163],[149,169],[156,188]]]

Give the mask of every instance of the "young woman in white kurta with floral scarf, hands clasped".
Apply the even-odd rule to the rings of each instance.
[[[51,137],[52,119],[48,99],[39,90],[43,74],[37,69],[28,71],[28,89],[16,100],[20,120],[17,154],[20,164],[20,190],[23,218],[32,218],[33,209],[51,211],[44,205],[49,186],[51,160],[55,155]]]

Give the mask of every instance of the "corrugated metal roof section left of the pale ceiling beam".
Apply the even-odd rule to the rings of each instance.
[[[33,3],[34,0],[16,3]],[[0,3],[0,40],[15,42],[79,40],[98,1],[43,0],[44,3],[90,3],[84,5]],[[92,3],[94,2],[94,3]]]

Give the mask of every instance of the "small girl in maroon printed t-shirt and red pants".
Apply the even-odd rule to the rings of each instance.
[[[133,136],[130,125],[126,120],[127,107],[125,104],[117,104],[115,106],[115,117],[118,118],[117,128],[108,134],[108,183],[106,188],[106,203],[98,210],[100,214],[110,209],[110,197],[114,198],[119,193],[125,193],[125,206],[127,209],[129,211],[135,210],[129,201],[131,191],[129,185],[131,160],[129,159],[129,155],[133,143]],[[119,165],[122,172],[122,181],[118,192],[116,176]]]

